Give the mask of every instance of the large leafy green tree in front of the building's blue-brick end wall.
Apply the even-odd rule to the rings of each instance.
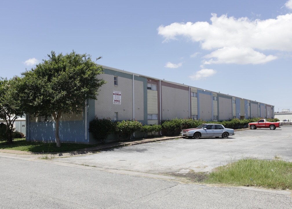
[[[97,58],[97,59],[100,59]],[[81,113],[87,99],[97,99],[105,83],[97,75],[103,73],[87,54],[48,54],[40,64],[22,73],[23,104],[34,116],[53,116],[55,141],[61,146],[59,120],[64,113]]]

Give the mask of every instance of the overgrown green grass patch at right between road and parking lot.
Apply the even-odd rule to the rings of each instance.
[[[204,183],[292,189],[292,163],[246,158],[216,168]]]

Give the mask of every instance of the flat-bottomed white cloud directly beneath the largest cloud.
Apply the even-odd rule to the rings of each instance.
[[[274,59],[277,56],[257,52],[252,48],[223,47],[204,56],[209,60],[204,64],[262,64]]]

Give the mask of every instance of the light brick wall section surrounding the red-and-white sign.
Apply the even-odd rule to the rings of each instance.
[[[95,100],[95,115],[98,118],[110,117],[114,119],[114,113],[118,112],[119,120],[132,119],[133,116],[133,89],[132,79],[119,77],[119,85],[114,85],[114,76],[100,74],[99,79],[106,80],[107,83],[100,87],[97,100]],[[113,91],[121,92],[121,104],[113,104]],[[143,93],[141,93],[143,94]],[[144,102],[142,100],[141,102]],[[88,107],[90,108],[90,107]],[[140,109],[143,109],[142,105]]]

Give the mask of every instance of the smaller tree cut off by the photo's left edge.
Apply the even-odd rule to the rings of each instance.
[[[11,79],[0,78],[0,118],[6,121],[6,140],[12,143],[13,124],[17,117],[24,115],[18,84],[21,79],[17,76]]]

